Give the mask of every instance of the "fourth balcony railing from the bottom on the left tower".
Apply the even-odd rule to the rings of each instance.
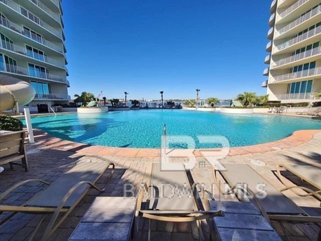
[[[0,1],[3,1],[3,0],[0,0]],[[38,43],[43,44],[43,45],[45,45],[45,46],[47,46],[47,47],[49,47],[51,49],[54,49],[54,50],[56,50],[56,51],[58,51],[60,53],[63,53],[62,47],[59,47],[58,45],[56,45],[56,44],[54,44],[54,43],[52,43],[52,42],[50,42],[50,41],[48,41],[48,40],[46,40],[44,38],[40,38],[39,36],[37,36],[37,35],[35,35],[33,33],[24,31],[24,29],[21,26],[9,21],[8,19],[0,17],[0,25],[6,27],[8,29],[11,29],[11,30],[13,30],[13,31],[15,31],[15,32],[17,32],[19,34],[22,34],[23,36],[25,36],[25,37],[27,37],[29,39],[37,41]]]

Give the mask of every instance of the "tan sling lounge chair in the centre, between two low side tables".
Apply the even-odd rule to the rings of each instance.
[[[198,208],[194,195],[196,184],[190,185],[183,164],[175,163],[175,165],[180,166],[182,171],[161,170],[161,163],[154,163],[150,185],[146,187],[148,198],[145,209],[141,209],[144,192],[140,192],[138,196],[135,223],[139,223],[139,217],[149,219],[148,239],[150,238],[151,219],[170,222],[197,221],[201,236],[199,220],[224,216],[221,210],[200,210]],[[138,229],[137,226],[135,228]]]

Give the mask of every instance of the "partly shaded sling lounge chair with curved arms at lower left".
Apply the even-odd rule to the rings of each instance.
[[[104,174],[104,172],[112,167],[111,174],[113,174],[113,163],[91,163],[83,162],[77,164],[75,167],[67,171],[63,176],[59,177],[53,183],[48,183],[40,179],[30,179],[22,181],[0,195],[0,201],[3,200],[8,194],[25,185],[29,182],[41,182],[48,185],[43,191],[36,194],[31,200],[27,201],[21,206],[13,205],[0,205],[0,214],[2,212],[12,212],[8,216],[0,220],[0,225],[9,220],[18,212],[33,213],[33,214],[50,214],[53,213],[48,226],[41,238],[42,241],[48,240],[49,236],[60,226],[69,213],[81,201],[81,199],[89,191],[90,187],[98,191],[105,190],[98,188],[95,183]],[[60,214],[64,214],[57,220]],[[34,230],[30,240],[35,237],[35,234],[47,215],[43,215]]]

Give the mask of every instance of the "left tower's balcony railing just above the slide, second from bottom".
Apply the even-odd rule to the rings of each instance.
[[[27,68],[22,66],[12,65],[12,64],[0,63],[0,71],[13,73],[13,74],[26,75],[26,76],[35,77],[35,78],[48,79],[48,80],[58,81],[58,82],[67,83],[67,84],[69,83],[66,80],[66,77],[55,75],[55,74],[48,74],[41,71],[35,71],[34,74],[30,74]]]

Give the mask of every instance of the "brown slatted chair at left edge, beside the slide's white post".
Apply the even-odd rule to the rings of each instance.
[[[28,161],[25,152],[26,131],[6,132],[0,134],[0,165],[9,163],[10,168],[13,165],[21,165],[28,171]],[[14,163],[21,160],[22,164]]]

